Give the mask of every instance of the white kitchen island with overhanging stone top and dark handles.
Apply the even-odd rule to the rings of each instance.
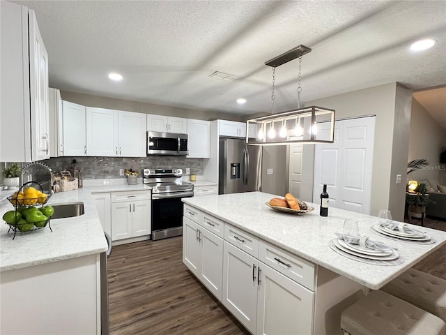
[[[385,239],[371,232],[378,218],[334,208],[324,218],[318,204],[309,203],[315,210],[299,215],[274,211],[266,202],[276,196],[252,192],[183,199],[183,262],[253,334],[268,327],[270,333],[341,334],[341,311],[363,291],[378,290],[446,243],[446,232],[429,228],[422,230],[434,244]],[[333,251],[329,243],[346,218],[357,220],[360,234],[397,248],[400,264],[373,265]],[[194,239],[201,251],[194,251]],[[219,261],[221,274],[215,266]],[[243,273],[249,276],[246,283]],[[253,300],[256,304],[249,305]],[[281,313],[272,312],[277,308]]]

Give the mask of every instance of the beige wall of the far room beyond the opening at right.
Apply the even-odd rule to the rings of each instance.
[[[408,161],[426,158],[429,166],[423,170],[412,172],[408,179],[423,181],[438,179],[446,182],[446,164],[440,164],[440,150],[446,146],[446,131],[431,117],[418,101],[412,101],[412,117],[410,119],[409,156]]]

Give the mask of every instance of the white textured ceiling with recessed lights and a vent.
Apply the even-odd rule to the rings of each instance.
[[[446,84],[446,1],[13,1],[36,10],[49,84],[160,105],[270,112],[265,61],[297,45],[300,101],[400,82]],[[438,43],[410,52],[418,38]],[[122,82],[111,82],[116,71]],[[239,77],[217,80],[215,71]],[[298,61],[276,69],[275,110],[297,107]],[[247,103],[237,105],[237,98]]]

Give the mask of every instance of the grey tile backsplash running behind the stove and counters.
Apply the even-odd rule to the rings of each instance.
[[[48,165],[53,172],[66,170],[72,160],[77,161],[78,168],[82,168],[84,179],[114,179],[125,178],[119,175],[120,169],[137,170],[139,176],[142,169],[180,168],[186,175],[186,168],[190,173],[203,174],[203,158],[185,158],[183,156],[148,156],[148,157],[55,157],[40,161]]]

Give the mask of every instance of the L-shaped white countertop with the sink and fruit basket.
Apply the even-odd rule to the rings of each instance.
[[[0,221],[0,271],[107,251],[107,241],[91,193],[149,191],[150,189],[144,184],[128,185],[111,182],[54,193],[47,204],[84,202],[85,213],[72,218],[51,220],[52,232],[48,226],[29,233],[17,232],[13,240],[13,232],[8,233],[9,226],[4,221]],[[0,206],[0,218],[6,211],[13,209],[13,205],[8,200],[3,200]]]

